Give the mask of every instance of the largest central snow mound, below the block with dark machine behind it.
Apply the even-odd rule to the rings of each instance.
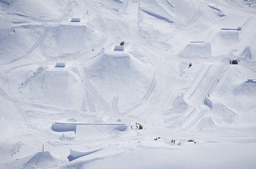
[[[124,51],[104,52],[86,71],[93,88],[117,111],[127,103],[147,99],[154,89],[151,65]]]

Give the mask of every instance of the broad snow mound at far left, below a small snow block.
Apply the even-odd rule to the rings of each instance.
[[[80,78],[68,70],[40,67],[20,85],[20,95],[27,102],[64,109],[80,109],[83,92]]]

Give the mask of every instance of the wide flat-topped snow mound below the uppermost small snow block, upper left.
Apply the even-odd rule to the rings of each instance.
[[[97,39],[97,40],[92,40]],[[44,41],[46,55],[76,56],[97,46],[99,37],[84,25],[54,26]]]

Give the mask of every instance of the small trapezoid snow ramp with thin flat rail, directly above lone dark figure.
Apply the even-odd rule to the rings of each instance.
[[[180,55],[184,57],[211,57],[211,43],[189,43]]]

